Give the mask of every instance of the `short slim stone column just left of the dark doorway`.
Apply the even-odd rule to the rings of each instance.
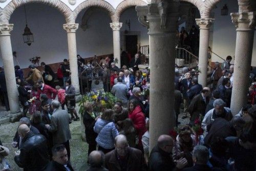
[[[110,27],[113,30],[113,48],[114,48],[114,59],[118,59],[116,66],[121,68],[121,50],[120,50],[120,28],[122,23],[110,23]]]

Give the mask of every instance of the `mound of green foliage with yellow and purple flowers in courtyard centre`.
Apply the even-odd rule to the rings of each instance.
[[[79,103],[79,113],[84,112],[83,103],[88,101],[93,102],[94,111],[97,111],[99,113],[102,112],[102,110],[104,109],[111,109],[117,99],[113,94],[109,92],[104,92],[103,89],[97,91],[93,90],[82,96],[82,100]]]

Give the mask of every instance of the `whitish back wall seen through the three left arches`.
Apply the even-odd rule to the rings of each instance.
[[[34,34],[34,42],[31,46],[23,43],[25,28],[24,7],[17,8],[11,15],[10,23],[14,24],[11,32],[12,50],[17,52],[20,67],[27,68],[31,63],[29,58],[41,56],[40,62],[46,63],[60,62],[68,56],[67,32],[62,25],[66,23],[65,17],[55,8],[42,4],[28,4],[27,17],[28,26]],[[98,12],[98,11],[97,11]],[[76,19],[76,23],[81,23],[84,10]],[[140,32],[141,45],[148,45],[147,29],[138,22],[135,7],[125,10],[120,18],[120,22],[131,20],[131,31]],[[111,18],[105,11],[93,13],[89,20],[89,28],[83,31],[80,27],[76,31],[77,53],[82,57],[92,57],[113,53],[113,31],[110,28]],[[121,31],[125,30],[125,24]],[[14,59],[14,65],[17,65]],[[3,66],[0,53],[0,67]]]

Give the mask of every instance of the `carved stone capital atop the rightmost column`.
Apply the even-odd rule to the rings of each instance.
[[[237,30],[251,30],[255,25],[256,12],[231,13],[231,20]]]

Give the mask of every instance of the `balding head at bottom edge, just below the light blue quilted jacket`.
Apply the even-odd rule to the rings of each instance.
[[[93,168],[100,168],[104,165],[104,154],[101,151],[93,151],[89,155],[89,163]]]

